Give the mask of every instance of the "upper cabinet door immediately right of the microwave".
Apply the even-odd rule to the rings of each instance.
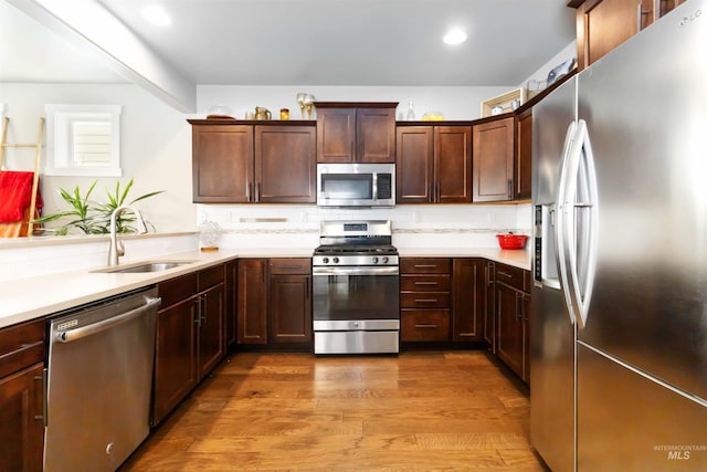
[[[400,126],[395,139],[395,201],[431,203],[434,185],[432,126]]]

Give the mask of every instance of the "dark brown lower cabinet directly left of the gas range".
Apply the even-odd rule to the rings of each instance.
[[[238,274],[241,345],[312,345],[312,259],[241,259]]]

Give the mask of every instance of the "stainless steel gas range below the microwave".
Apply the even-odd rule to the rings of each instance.
[[[323,221],[312,260],[315,354],[399,352],[400,282],[390,221]]]

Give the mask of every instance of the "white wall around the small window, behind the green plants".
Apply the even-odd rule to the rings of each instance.
[[[187,116],[131,84],[0,84],[0,103],[10,117],[8,143],[34,143],[39,117],[44,105],[119,104],[122,187],[135,179],[128,200],[156,190],[165,193],[139,201],[136,206],[158,232],[193,231],[196,206],[191,202],[191,127]],[[29,156],[29,157],[28,157]],[[8,168],[31,168],[33,149],[8,149]],[[42,157],[43,162],[46,159]],[[114,191],[116,178],[42,177],[44,214],[66,204],[60,188],[82,195],[98,180],[92,198],[106,201],[106,190]]]

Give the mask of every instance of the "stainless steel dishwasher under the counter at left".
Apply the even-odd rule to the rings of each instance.
[[[44,471],[115,471],[149,433],[157,289],[50,319]]]

